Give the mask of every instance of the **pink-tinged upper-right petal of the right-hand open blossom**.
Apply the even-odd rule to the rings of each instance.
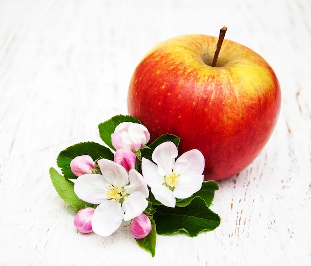
[[[182,154],[174,165],[174,172],[183,175],[201,175],[204,170],[204,156],[197,150],[189,150]]]

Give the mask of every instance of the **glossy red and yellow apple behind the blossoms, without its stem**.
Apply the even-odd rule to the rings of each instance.
[[[218,38],[184,35],[158,44],[136,67],[128,112],[148,128],[151,141],[170,133],[180,154],[198,149],[205,180],[245,169],[276,125],[281,91],[270,65],[253,50],[225,39],[211,67]]]

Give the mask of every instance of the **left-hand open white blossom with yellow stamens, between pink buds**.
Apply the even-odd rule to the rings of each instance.
[[[74,191],[78,198],[98,205],[92,218],[93,231],[101,236],[111,235],[122,220],[130,221],[148,206],[146,181],[135,169],[107,159],[98,160],[100,174],[85,174],[76,179]]]

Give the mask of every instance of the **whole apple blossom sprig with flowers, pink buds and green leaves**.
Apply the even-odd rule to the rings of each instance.
[[[209,209],[218,185],[204,181],[199,150],[179,156],[180,139],[170,134],[149,143],[148,129],[130,116],[99,124],[99,133],[108,147],[73,145],[57,158],[64,176],[50,169],[56,191],[77,211],[79,232],[106,237],[124,224],[154,256],[157,234],[185,231],[193,237],[219,225]]]

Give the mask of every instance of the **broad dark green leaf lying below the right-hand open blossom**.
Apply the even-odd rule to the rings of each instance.
[[[188,236],[194,237],[202,231],[212,231],[220,224],[220,217],[200,197],[195,197],[185,207],[157,206],[153,218],[159,235],[184,231]]]

